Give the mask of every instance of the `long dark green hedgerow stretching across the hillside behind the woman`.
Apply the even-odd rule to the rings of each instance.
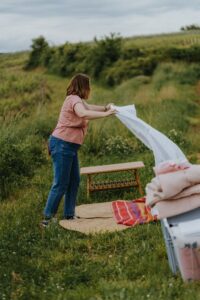
[[[43,37],[33,40],[27,68],[39,65],[60,76],[88,73],[109,86],[120,84],[138,75],[151,76],[164,61],[199,62],[199,45],[154,46],[141,48],[137,44],[123,43],[116,34],[95,38],[93,43],[65,43],[49,47]]]

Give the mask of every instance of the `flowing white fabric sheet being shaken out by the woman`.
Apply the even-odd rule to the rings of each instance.
[[[137,117],[135,105],[115,106],[116,117],[142,142],[153,151],[155,165],[166,161],[188,162],[179,147],[168,137]]]

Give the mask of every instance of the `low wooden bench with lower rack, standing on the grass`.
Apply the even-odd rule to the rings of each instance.
[[[121,164],[104,165],[104,166],[94,166],[94,167],[84,167],[81,168],[81,175],[87,175],[87,197],[90,196],[91,192],[113,190],[113,189],[123,189],[130,187],[137,187],[140,194],[143,194],[138,170],[144,167],[142,161],[137,162],[127,162]],[[98,174],[112,173],[112,172],[129,172],[133,175],[133,178],[129,180],[109,180],[109,181],[94,181],[93,178]]]

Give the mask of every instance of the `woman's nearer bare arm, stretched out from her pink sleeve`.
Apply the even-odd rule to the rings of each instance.
[[[94,120],[99,118],[108,117],[114,113],[116,113],[116,110],[110,109],[108,111],[95,111],[87,109],[83,104],[77,103],[74,106],[74,111],[80,118],[85,118],[86,120]]]

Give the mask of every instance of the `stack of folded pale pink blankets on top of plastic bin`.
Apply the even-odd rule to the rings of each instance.
[[[146,186],[146,205],[158,219],[200,207],[200,165],[171,165],[154,169]]]

